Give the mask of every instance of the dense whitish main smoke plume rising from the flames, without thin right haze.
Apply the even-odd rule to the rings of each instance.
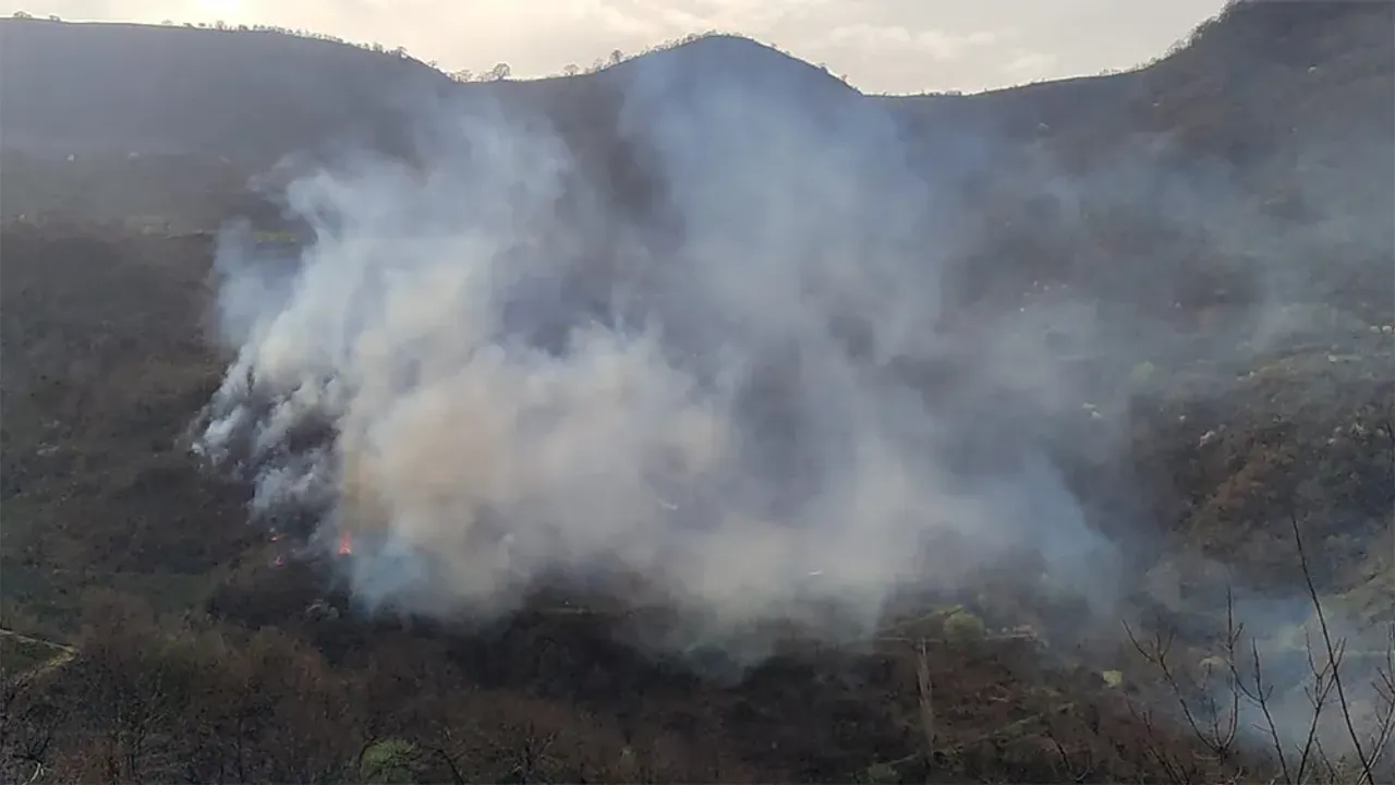
[[[706,626],[841,637],[1023,553],[1108,605],[1115,553],[1031,446],[1080,411],[1042,314],[936,331],[933,193],[891,124],[665,78],[624,88],[661,183],[644,225],[495,108],[452,112],[417,165],[294,182],[299,260],[220,247],[239,353],[199,450],[254,474],[258,513],[357,532],[356,592],[417,612],[625,574]],[[928,395],[907,359],[954,359],[957,387]]]

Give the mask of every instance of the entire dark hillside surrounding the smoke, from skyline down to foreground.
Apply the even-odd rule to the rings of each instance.
[[[797,130],[817,126],[827,134],[812,138],[834,148],[841,130],[890,117],[944,197],[942,214],[928,217],[925,247],[953,246],[943,261],[958,285],[946,286],[946,300],[965,310],[986,303],[981,310],[999,317],[964,317],[958,337],[976,335],[975,324],[989,334],[1018,325],[1018,302],[1062,288],[1076,289],[1066,299],[1102,303],[1101,332],[1152,328],[1151,316],[1225,327],[1257,311],[1293,332],[1278,351],[1233,346],[1236,332],[1223,328],[1159,346],[1170,355],[1143,353],[1155,346],[1138,339],[1140,353],[1113,369],[1129,379],[1091,387],[1084,408],[1064,399],[1062,437],[1041,440],[1043,450],[1067,439],[1094,443],[1098,420],[1119,418],[1116,448],[1096,455],[1071,444],[1060,469],[1092,527],[1138,535],[1127,549],[1138,552],[1133,577],[1147,575],[1137,587],[1140,616],[1166,610],[1159,634],[1183,626],[1173,662],[1186,670],[1198,662],[1200,679],[1215,659],[1214,641],[1187,630],[1211,630],[1205,615],[1221,605],[1207,598],[1230,588],[1212,568],[1219,562],[1258,588],[1292,585],[1288,515],[1299,507],[1328,608],[1374,620],[1389,613],[1382,532],[1395,504],[1395,307],[1391,182],[1380,155],[1388,155],[1381,134],[1395,91],[1391,43],[1377,35],[1389,21],[1384,4],[1249,6],[1133,74],[901,99],[861,96],[732,38],[587,77],[455,85],[412,63],[322,42],[135,28],[155,41],[222,36],[209,50],[222,47],[233,63],[325,60],[294,75],[308,96],[301,120],[275,123],[279,115],[262,109],[268,95],[290,95],[279,81],[244,78],[255,68],[229,73],[193,43],[181,57],[202,63],[184,67],[202,80],[194,88],[106,80],[126,98],[56,103],[63,112],[47,112],[43,91],[82,74],[13,67],[17,49],[4,46],[3,135],[32,142],[21,151],[25,169],[6,159],[4,208],[38,194],[29,204],[60,217],[184,211],[211,226],[246,211],[229,191],[266,158],[336,140],[405,149],[410,137],[391,126],[406,123],[412,101],[497,96],[506,108],[547,112],[582,176],[628,208],[603,215],[640,223],[661,218],[665,191],[635,126],[696,127],[674,138],[691,142],[698,165],[731,169],[707,151],[755,131],[742,113],[721,112],[723,91],[769,95],[774,110],[799,120]],[[18,41],[21,24],[53,35],[134,35],[128,27],[4,22],[10,38],[0,45]],[[57,57],[25,46],[31,57]],[[169,64],[165,53],[123,46],[107,46],[88,67]],[[360,67],[400,71],[412,85],[424,74],[427,87],[409,89],[406,103],[347,82],[349,99],[331,89]],[[28,85],[28,113],[11,110],[11,82]],[[246,88],[237,113],[223,117],[237,124],[197,116],[225,110],[208,85]],[[626,109],[636,95],[643,101]],[[128,112],[126,99],[148,102],[148,112]],[[107,117],[119,133],[107,133]],[[156,127],[156,119],[172,124]],[[374,137],[378,120],[391,133]],[[247,142],[244,129],[262,135]],[[153,141],[137,158],[128,147],[103,147],[141,141],[145,130]],[[68,162],[47,138],[89,147]],[[204,204],[193,204],[204,191]],[[229,359],[202,337],[213,296],[209,236],[35,223],[7,223],[0,236],[0,630],[70,641],[75,654],[14,680],[14,669],[36,656],[0,656],[6,781],[1282,781],[1264,761],[1191,739],[1165,714],[1134,712],[1140,690],[1162,689],[1156,675],[1127,647],[1076,650],[1076,633],[1060,620],[1071,613],[1030,570],[1021,587],[995,581],[964,598],[968,619],[951,612],[891,630],[870,656],[795,651],[730,687],[618,645],[639,633],[610,616],[615,598],[585,609],[585,598],[562,608],[540,602],[485,630],[340,616],[346,606],[333,602],[343,598],[325,591],[322,575],[293,560],[286,568],[276,560],[286,542],[244,525],[251,489],[197,472],[184,450],[186,429]],[[604,242],[597,256],[608,258]],[[1265,275],[1272,268],[1309,278]],[[1328,296],[1336,291],[1342,298]],[[1309,306],[1269,309],[1275,299]],[[956,391],[939,379],[953,367],[911,373],[921,370],[946,420],[1003,423],[985,433],[1006,441],[1035,425],[1004,416],[1011,399]],[[95,589],[141,599],[92,602]],[[173,613],[156,619],[166,610]],[[1265,633],[1254,630],[1279,637],[1288,624],[1267,603],[1240,616],[1257,637]],[[963,640],[950,636],[951,619],[968,624]],[[1024,634],[996,634],[1017,624]],[[1034,633],[1055,645],[1038,648]],[[919,655],[905,645],[925,637],[933,645]],[[1067,668],[1042,672],[1043,651],[1046,662]],[[1293,682],[1281,690],[1307,707],[1304,684]],[[368,770],[385,749],[407,758],[402,768],[414,777]],[[1345,774],[1317,781],[1355,779]]]

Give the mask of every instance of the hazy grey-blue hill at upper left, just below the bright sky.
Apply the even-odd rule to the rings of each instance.
[[[275,32],[0,21],[4,145],[275,159],[335,140],[395,147],[453,87],[391,53]]]

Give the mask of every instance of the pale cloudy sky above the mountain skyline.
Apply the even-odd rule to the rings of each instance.
[[[716,29],[824,63],[864,92],[965,92],[1127,68],[1223,0],[0,0],[71,21],[269,24],[405,46],[515,78]]]

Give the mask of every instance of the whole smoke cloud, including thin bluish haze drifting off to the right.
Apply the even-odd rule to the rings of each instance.
[[[1085,172],[951,123],[928,152],[889,105],[692,66],[597,77],[600,147],[477,92],[425,113],[413,162],[293,177],[304,249],[222,237],[237,358],[198,451],[271,525],[308,517],[331,553],[349,532],[368,606],[492,619],[594,587],[678,610],[660,645],[744,661],[763,624],[866,640],[903,594],[985,582],[1113,624],[1148,534],[1137,501],[1089,508],[1081,467],[1134,496],[1131,397],[1202,355],[1218,397],[1321,323],[1285,305],[1321,299],[1342,217],[1269,215],[1163,137]],[[981,179],[1048,217],[985,217]],[[965,307],[979,284],[1032,286]],[[1182,339],[1172,306],[1208,298],[1230,321]]]

